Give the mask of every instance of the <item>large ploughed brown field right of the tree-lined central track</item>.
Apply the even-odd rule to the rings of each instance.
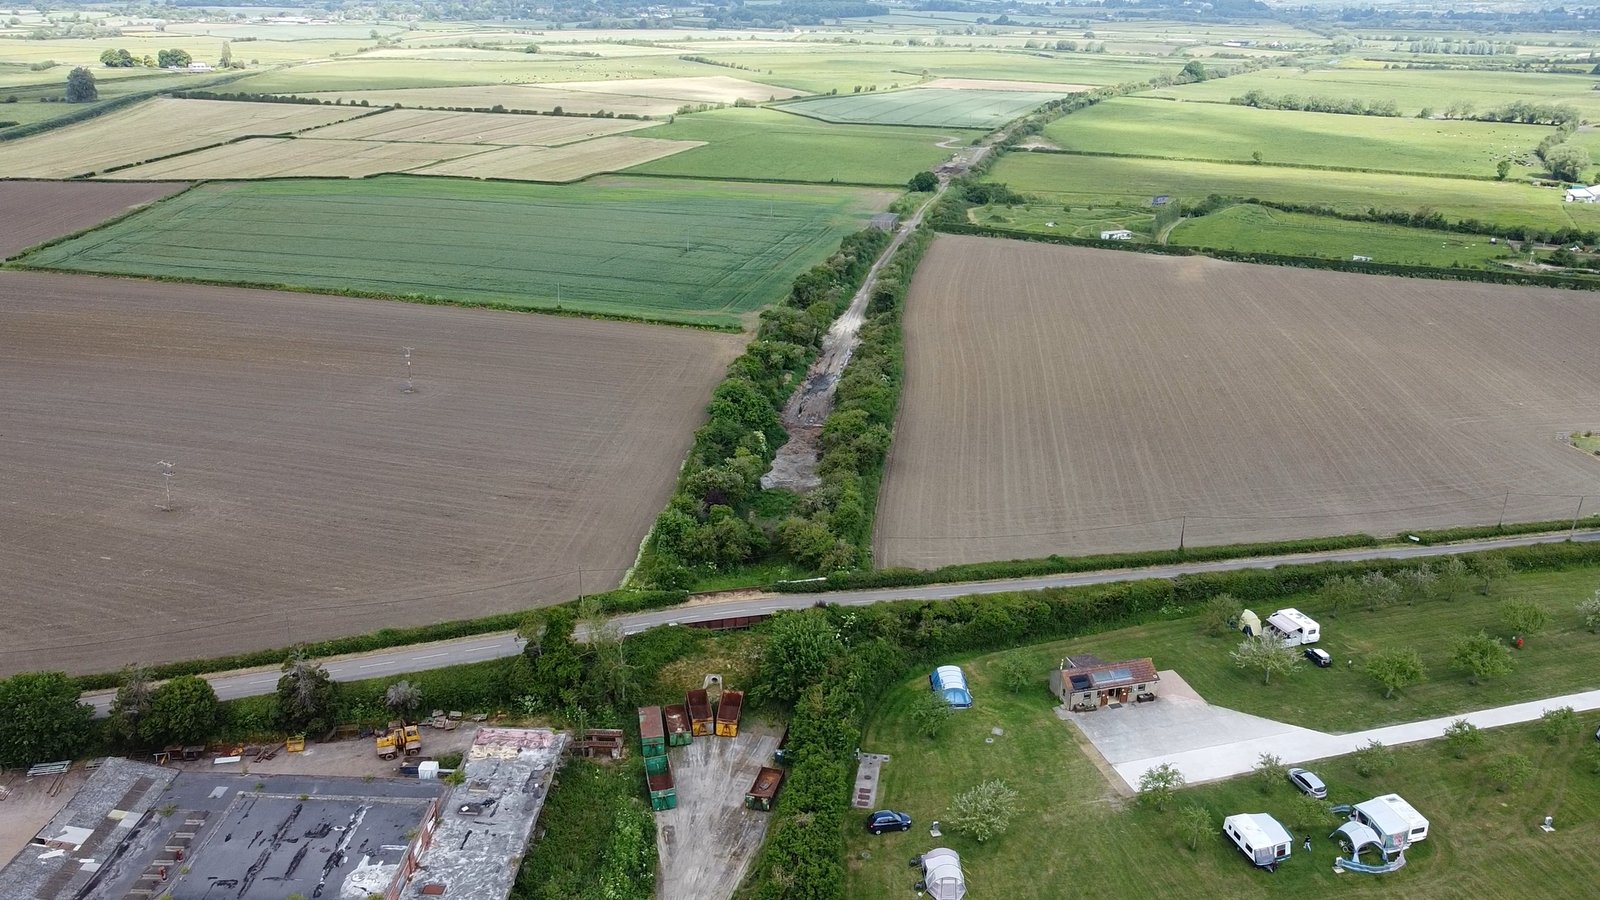
[[[1600,296],[941,235],[882,565],[1600,512]]]

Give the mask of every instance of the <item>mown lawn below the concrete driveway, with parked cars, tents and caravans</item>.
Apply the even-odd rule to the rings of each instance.
[[[1043,649],[1029,649],[1040,660]],[[912,698],[926,690],[920,674],[890,692],[875,711],[862,749],[891,754],[883,767],[878,807],[912,814],[904,834],[870,836],[861,818],[846,825],[848,897],[910,897],[917,870],[907,860],[936,846],[962,854],[973,897],[1107,898],[1126,897],[1587,897],[1600,878],[1600,775],[1582,757],[1587,733],[1552,746],[1530,725],[1486,732],[1488,746],[1474,759],[1448,757],[1438,745],[1395,751],[1394,770],[1371,778],[1350,761],[1315,765],[1334,802],[1355,802],[1395,791],[1429,817],[1432,833],[1408,854],[1410,865],[1389,876],[1331,871],[1336,825],[1315,828],[1314,852],[1298,839],[1288,785],[1262,791],[1250,778],[1202,785],[1179,793],[1166,812],[1138,807],[1107,781],[1085,740],[1056,719],[1042,689],[1006,693],[995,679],[1000,653],[966,660],[976,706],[957,713],[936,740],[914,733]],[[1574,663],[1578,665],[1578,663]],[[990,729],[998,727],[995,737]],[[986,738],[994,743],[986,743]],[[1498,793],[1482,775],[1499,753],[1525,753],[1533,780],[1515,793]],[[930,838],[928,823],[946,818],[950,798],[987,778],[1019,791],[1010,831],[986,844],[952,836]],[[1178,809],[1195,804],[1216,831],[1190,850],[1178,830]],[[1277,874],[1251,868],[1221,836],[1221,820],[1235,812],[1269,812],[1296,830],[1294,855]],[[1557,831],[1536,828],[1554,815]]]

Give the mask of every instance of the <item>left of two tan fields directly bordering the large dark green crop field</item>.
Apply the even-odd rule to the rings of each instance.
[[[366,178],[411,171],[485,151],[486,147],[474,144],[250,138],[123,168],[102,178],[115,181]]]

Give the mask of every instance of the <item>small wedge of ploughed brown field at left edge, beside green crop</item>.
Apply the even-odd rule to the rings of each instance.
[[[0,259],[178,194],[182,183],[0,181]]]

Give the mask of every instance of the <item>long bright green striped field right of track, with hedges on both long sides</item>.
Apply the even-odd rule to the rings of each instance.
[[[1120,98],[1051,122],[1045,138],[1064,151],[1234,162],[1259,152],[1267,163],[1491,176],[1494,163],[1531,155],[1554,131]]]

